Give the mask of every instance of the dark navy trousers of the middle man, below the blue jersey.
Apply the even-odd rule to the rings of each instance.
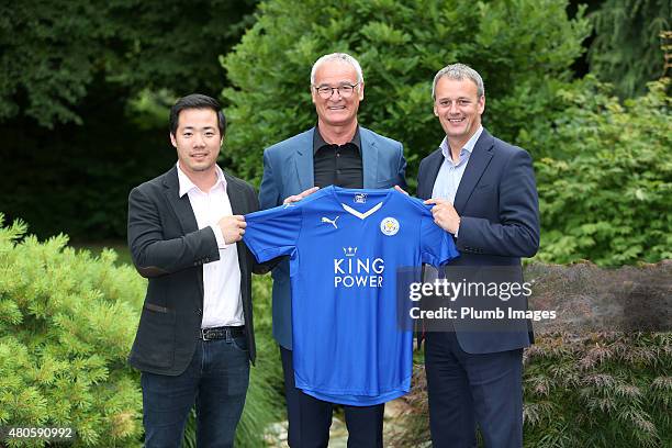
[[[280,347],[284,394],[289,419],[288,443],[291,448],[326,448],[334,404],[317,400],[294,387],[292,350]],[[348,448],[382,448],[383,413],[385,405],[344,405]]]

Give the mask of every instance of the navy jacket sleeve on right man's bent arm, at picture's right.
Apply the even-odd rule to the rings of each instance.
[[[504,169],[499,197],[500,222],[461,216],[460,251],[533,257],[539,248],[539,200],[531,157],[516,150]]]

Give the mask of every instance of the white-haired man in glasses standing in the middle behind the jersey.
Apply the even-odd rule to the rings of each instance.
[[[401,143],[359,126],[363,100],[359,63],[344,53],[317,59],[311,72],[311,94],[317,125],[264,152],[261,209],[294,202],[317,188],[391,188],[404,186],[406,161]],[[272,272],[273,337],[280,345],[289,419],[289,445],[326,447],[333,404],[294,387],[289,262]],[[384,405],[345,406],[348,446],[382,447]]]

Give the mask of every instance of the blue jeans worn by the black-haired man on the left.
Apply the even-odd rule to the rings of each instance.
[[[142,372],[145,447],[179,448],[195,402],[197,446],[233,447],[249,383],[245,337],[199,340],[181,374]]]

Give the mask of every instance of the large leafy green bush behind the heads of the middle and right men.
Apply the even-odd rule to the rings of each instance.
[[[269,0],[224,60],[233,85],[225,90],[226,156],[242,176],[259,179],[264,147],[315,123],[310,71],[332,52],[350,53],[362,66],[360,123],[403,142],[412,163],[443,138],[430,89],[449,63],[482,74],[486,125],[515,139],[582,52],[587,21],[582,11],[569,20],[565,7],[563,0]]]

